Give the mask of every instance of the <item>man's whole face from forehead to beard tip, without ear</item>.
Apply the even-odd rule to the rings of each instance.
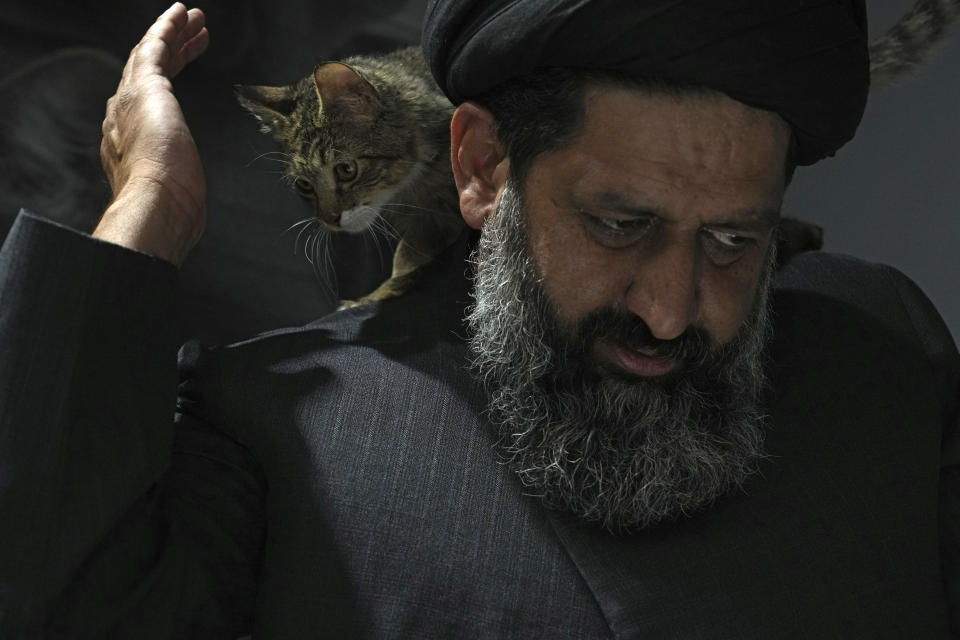
[[[572,145],[507,181],[468,317],[501,452],[614,530],[690,513],[762,457],[787,131],[719,97],[594,92]]]

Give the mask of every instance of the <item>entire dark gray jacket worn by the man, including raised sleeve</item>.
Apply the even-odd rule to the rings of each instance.
[[[465,252],[393,301],[188,344],[178,392],[174,269],[21,215],[0,253],[0,637],[960,628],[960,358],[905,277],[788,263],[761,473],[611,536],[497,461]]]

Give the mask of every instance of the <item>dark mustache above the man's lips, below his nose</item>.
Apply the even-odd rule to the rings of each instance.
[[[581,353],[589,353],[599,340],[633,350],[642,350],[689,366],[705,364],[715,358],[720,344],[703,327],[690,326],[671,340],[653,335],[642,318],[615,307],[602,307],[581,320],[575,342]]]

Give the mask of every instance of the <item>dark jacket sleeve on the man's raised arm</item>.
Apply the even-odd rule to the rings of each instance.
[[[0,637],[249,630],[263,482],[197,349],[178,399],[176,279],[23,212],[0,250]]]

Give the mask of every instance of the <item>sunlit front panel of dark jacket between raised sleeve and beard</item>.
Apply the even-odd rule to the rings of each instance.
[[[260,636],[608,636],[497,462],[454,335],[463,287],[428,280],[376,314],[201,357],[198,385],[226,377],[207,418],[257,452],[269,487]]]

